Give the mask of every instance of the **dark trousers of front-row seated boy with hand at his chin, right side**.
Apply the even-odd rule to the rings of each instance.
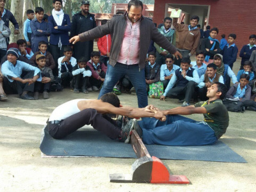
[[[195,86],[196,83],[195,81],[189,81],[188,84],[186,86],[175,86],[174,88],[172,88],[168,93],[167,93],[167,97],[170,98],[179,98],[179,95],[185,95],[185,101],[186,102],[190,102],[192,95],[195,92]]]

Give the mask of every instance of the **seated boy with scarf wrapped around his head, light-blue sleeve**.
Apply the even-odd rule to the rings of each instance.
[[[227,81],[227,77],[232,78],[233,84],[238,83],[236,75],[232,69],[227,64],[223,63],[221,54],[216,54],[214,56],[214,64],[217,66],[217,74],[223,76],[224,83],[227,88],[230,88],[230,82]]]

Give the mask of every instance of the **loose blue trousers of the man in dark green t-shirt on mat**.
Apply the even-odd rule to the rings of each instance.
[[[217,141],[208,124],[180,115],[168,115],[165,122],[146,117],[138,124],[143,131],[142,141],[148,145],[212,145]]]

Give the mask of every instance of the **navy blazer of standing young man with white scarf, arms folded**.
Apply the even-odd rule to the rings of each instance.
[[[56,24],[53,16],[51,15],[48,18],[48,26],[49,26],[49,31],[51,33],[50,44],[58,45],[61,40],[62,45],[69,45],[68,31],[71,30],[71,23],[70,23],[69,15],[64,13],[61,26],[58,26]],[[58,26],[58,29],[54,29],[55,26]]]

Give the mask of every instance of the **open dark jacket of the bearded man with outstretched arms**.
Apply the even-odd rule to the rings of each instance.
[[[110,33],[112,38],[112,45],[109,56],[109,64],[114,67],[122,47],[126,25],[126,13],[124,15],[115,15],[106,24],[98,26],[97,28],[94,28],[90,31],[86,31],[85,33],[79,34],[79,38],[81,41],[86,41],[100,38]],[[140,68],[145,67],[145,60],[151,40],[172,54],[177,51],[176,48],[170,44],[170,42],[168,42],[168,40],[163,35],[161,35],[161,33],[159,33],[159,31],[157,31],[157,28],[155,27],[152,20],[142,16],[140,22]]]

